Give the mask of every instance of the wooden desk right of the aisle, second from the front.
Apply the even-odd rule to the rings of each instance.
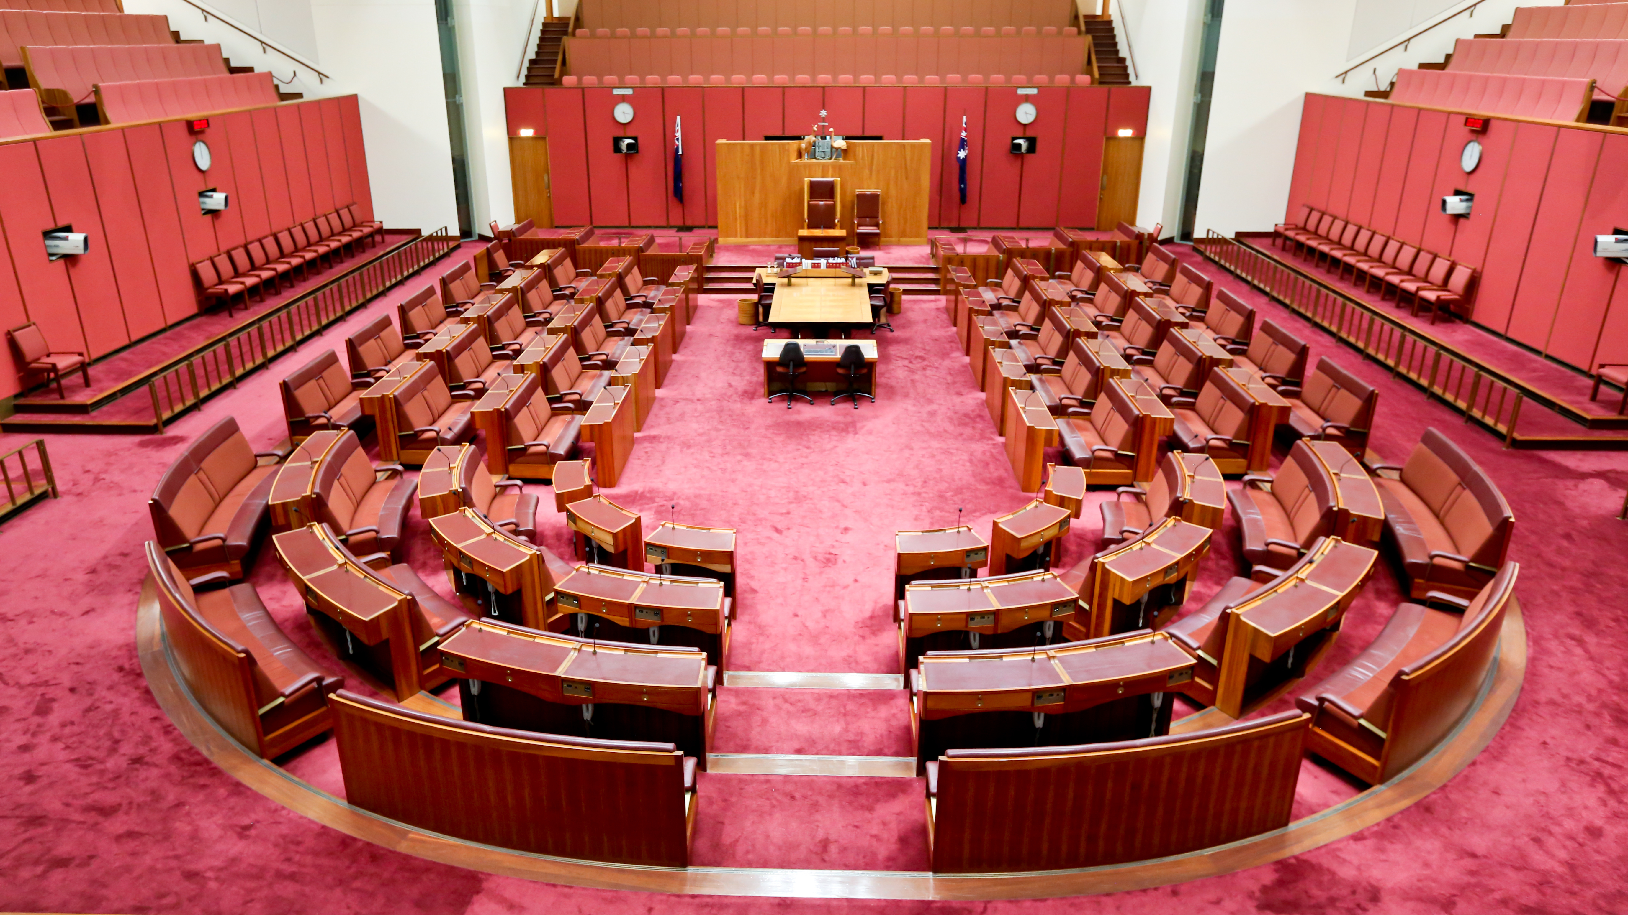
[[[900,670],[923,652],[1032,648],[1061,634],[1078,595],[1052,572],[912,582],[895,605]]]

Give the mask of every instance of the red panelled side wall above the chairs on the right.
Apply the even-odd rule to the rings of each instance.
[[[1480,166],[1459,156],[1481,143]],[[1594,236],[1628,228],[1628,135],[1307,94],[1288,218],[1314,206],[1481,270],[1475,323],[1561,362],[1621,361],[1628,281]],[[1475,195],[1468,218],[1441,198]]]

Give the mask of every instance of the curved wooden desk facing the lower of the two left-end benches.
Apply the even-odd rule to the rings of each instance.
[[[326,525],[274,535],[272,544],[306,611],[332,619],[348,634],[344,637],[348,660],[361,661],[368,673],[392,684],[397,700],[418,694],[423,671],[412,627],[410,614],[417,613],[412,595],[357,562]],[[355,642],[361,642],[361,650]]]

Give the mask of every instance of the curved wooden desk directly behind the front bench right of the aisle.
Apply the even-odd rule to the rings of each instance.
[[[928,652],[912,681],[917,772],[949,749],[1073,746],[1166,735],[1195,660],[1162,632],[1042,650]]]

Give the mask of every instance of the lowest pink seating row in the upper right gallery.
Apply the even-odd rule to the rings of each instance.
[[[1565,7],[1555,7],[1565,10]],[[1454,111],[1582,120],[1594,98],[1594,80],[1514,76],[1457,70],[1400,70],[1390,101]]]

